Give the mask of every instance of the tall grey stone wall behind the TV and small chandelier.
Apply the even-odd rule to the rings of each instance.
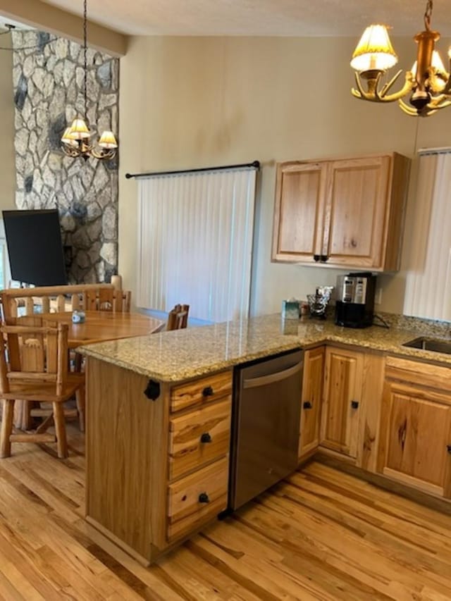
[[[44,32],[13,32],[16,206],[57,208],[70,283],[109,281],[118,264],[118,157],[70,159],[61,135],[84,116],[83,49]],[[118,132],[119,61],[87,51],[87,120]],[[67,124],[67,125],[66,125]]]

